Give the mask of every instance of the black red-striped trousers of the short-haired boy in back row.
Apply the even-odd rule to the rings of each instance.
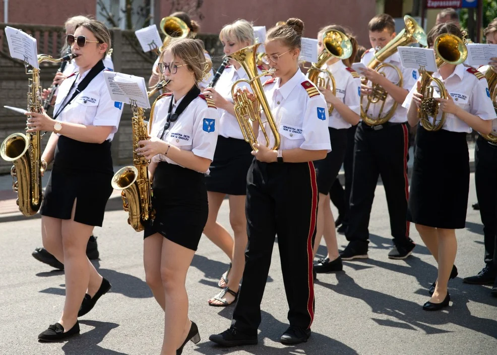
[[[387,123],[381,129],[359,123],[355,133],[349,223],[345,234],[355,249],[367,250],[369,216],[379,175],[387,197],[393,243],[405,248],[414,246],[409,238],[409,222],[406,221],[408,150],[406,123]]]

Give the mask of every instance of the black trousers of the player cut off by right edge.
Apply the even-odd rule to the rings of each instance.
[[[497,145],[481,136],[475,147],[475,186],[485,244],[485,264],[497,270]]]

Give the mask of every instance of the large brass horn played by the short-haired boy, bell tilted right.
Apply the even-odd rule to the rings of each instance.
[[[403,82],[402,73],[400,72],[399,68],[391,64],[382,63],[382,62],[385,61],[389,56],[394,54],[399,46],[404,46],[416,42],[420,43],[423,46],[426,46],[426,34],[424,33],[421,26],[419,26],[417,22],[408,15],[404,16],[404,23],[405,23],[405,28],[402,31],[400,31],[399,34],[395,36],[395,38],[393,38],[390,42],[388,42],[387,45],[385,45],[385,47],[377,51],[375,53],[375,57],[372,58],[372,60],[367,64],[367,67],[369,69],[376,70],[382,75],[385,75],[385,73],[381,73],[380,72],[381,69],[387,67],[394,69],[399,77],[399,80],[396,83],[396,85],[398,86],[402,86]],[[390,108],[390,110],[384,116],[382,116],[383,108],[385,107],[385,101],[387,97],[388,97],[387,91],[378,84],[372,85],[371,93],[368,94],[366,97],[367,104],[365,107],[363,107],[362,95],[361,95],[361,118],[366,124],[368,124],[369,126],[382,125],[392,118],[392,116],[395,113],[395,109],[397,108],[396,101],[393,102],[392,108]],[[369,110],[369,105],[371,103],[375,104],[380,101],[383,101],[383,103],[380,107],[378,116],[375,117],[372,115],[368,115],[367,111]]]

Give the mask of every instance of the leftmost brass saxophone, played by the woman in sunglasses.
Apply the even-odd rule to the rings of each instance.
[[[76,54],[68,54],[55,59],[50,55],[39,54],[38,64],[42,62],[59,63],[71,61]],[[28,111],[39,112],[43,107],[41,100],[40,70],[36,68],[28,69],[26,64],[26,74],[31,75],[28,91]],[[28,128],[26,128],[27,130]],[[22,214],[29,217],[40,209],[43,199],[41,188],[41,132],[35,133],[14,133],[7,137],[0,146],[0,156],[4,160],[12,161],[11,175],[14,180],[12,189],[18,193],[17,205]],[[17,177],[17,181],[16,178]]]

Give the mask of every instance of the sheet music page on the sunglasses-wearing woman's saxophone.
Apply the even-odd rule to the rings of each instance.
[[[36,69],[38,65],[38,51],[36,49],[36,38],[18,30],[17,28],[7,26],[5,28],[9,51],[13,58],[20,59]]]

